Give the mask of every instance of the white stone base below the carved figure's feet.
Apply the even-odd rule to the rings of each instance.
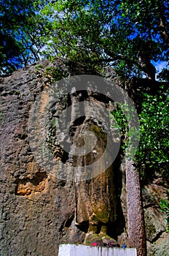
[[[58,256],[137,256],[137,252],[133,248],[60,244]]]

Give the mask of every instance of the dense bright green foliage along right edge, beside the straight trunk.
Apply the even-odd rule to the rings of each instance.
[[[141,140],[135,162],[143,180],[152,179],[155,172],[161,173],[168,183],[168,89],[164,85],[157,94],[144,94],[142,110],[139,114]]]

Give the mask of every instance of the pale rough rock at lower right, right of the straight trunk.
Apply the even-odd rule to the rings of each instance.
[[[165,214],[160,211],[160,200],[168,198],[167,189],[157,178],[144,186],[144,216],[148,255],[168,255],[169,233],[166,233]]]

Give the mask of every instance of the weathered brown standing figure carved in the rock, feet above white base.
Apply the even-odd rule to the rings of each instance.
[[[90,99],[90,102],[92,100]],[[75,97],[72,97],[73,104],[74,101]],[[98,108],[97,101],[92,103],[92,108],[96,116],[102,116],[103,106]],[[78,112],[76,108],[72,110],[71,115],[74,120],[76,119],[73,120],[70,129],[72,143],[79,149],[84,144],[90,148],[88,154],[75,154],[71,159],[75,172],[75,223],[79,228],[88,225],[85,244],[90,244],[93,239],[102,243],[105,238],[113,243],[115,241],[107,236],[109,223],[116,220],[113,165],[108,165],[106,168],[106,164],[112,159],[112,144],[107,148],[107,131],[103,124],[93,117],[91,108],[89,110],[84,104],[84,116],[81,118],[76,118]],[[93,138],[90,138],[90,132],[95,135],[95,146],[93,146]],[[84,141],[85,134],[88,134],[88,138]],[[106,154],[103,155],[105,151]]]

